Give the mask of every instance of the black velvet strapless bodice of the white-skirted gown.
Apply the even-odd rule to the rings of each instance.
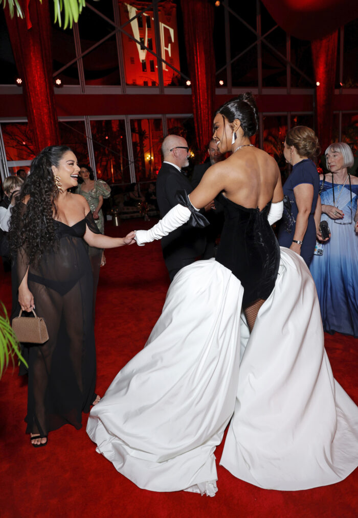
[[[231,202],[223,194],[225,223],[216,261],[232,271],[244,288],[243,307],[266,300],[273,290],[280,263],[280,247],[263,210]]]

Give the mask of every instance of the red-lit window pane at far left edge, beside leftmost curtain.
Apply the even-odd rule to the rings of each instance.
[[[6,160],[32,160],[35,158],[32,135],[27,122],[2,122]]]

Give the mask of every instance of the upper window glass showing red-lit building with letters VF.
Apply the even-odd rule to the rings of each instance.
[[[145,5],[152,5],[151,2],[141,2],[138,7],[135,2],[120,3],[120,19],[121,24],[128,22],[129,19],[134,18]],[[178,31],[176,23],[177,6],[171,3],[167,6],[158,5],[159,11],[159,36],[161,48],[159,53],[169,65],[162,63],[164,86],[184,84],[180,74],[177,74],[170,65],[173,65],[177,70],[181,69],[180,45],[178,41]],[[158,85],[158,64],[156,57],[144,48],[157,52],[155,40],[155,28],[153,19],[153,9],[148,8],[141,17],[137,17],[125,27],[125,31],[133,36],[137,43],[132,38],[122,33],[123,57],[126,68],[127,84],[136,85]],[[154,60],[154,67],[150,66],[149,61]],[[144,63],[143,63],[144,62]]]

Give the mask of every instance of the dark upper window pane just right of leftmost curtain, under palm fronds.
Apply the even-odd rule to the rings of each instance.
[[[62,27],[59,26],[58,23],[53,23],[54,13],[53,13],[53,2],[49,2],[50,7],[50,18],[52,21],[51,28],[51,50],[52,50],[52,69],[53,73],[56,73],[57,70],[65,66],[67,63],[72,61],[76,57],[76,49],[75,49],[75,39],[73,36],[73,30],[69,27],[66,30],[63,30]],[[62,16],[63,21],[63,16]],[[65,68],[60,74],[56,77],[59,77],[62,80],[64,85],[66,84],[79,84],[78,78],[78,66],[77,61],[72,65]]]

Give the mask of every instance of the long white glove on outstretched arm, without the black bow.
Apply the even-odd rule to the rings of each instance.
[[[183,205],[175,205],[169,212],[162,218],[156,225],[149,230],[137,230],[135,231],[134,239],[137,245],[140,247],[144,246],[144,243],[150,243],[155,239],[161,239],[163,236],[168,236],[170,232],[176,228],[184,225],[189,221],[191,211]]]

